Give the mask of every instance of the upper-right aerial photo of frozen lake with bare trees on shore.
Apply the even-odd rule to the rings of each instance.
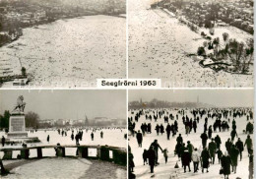
[[[129,78],[252,88],[253,0],[129,0]]]

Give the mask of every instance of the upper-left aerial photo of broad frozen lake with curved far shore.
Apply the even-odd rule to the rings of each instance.
[[[0,0],[1,88],[125,77],[125,0]]]

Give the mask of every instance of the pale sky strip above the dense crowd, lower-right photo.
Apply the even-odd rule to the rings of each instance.
[[[153,98],[169,102],[196,102],[216,107],[253,107],[253,89],[144,89],[129,90],[129,101],[150,101]]]

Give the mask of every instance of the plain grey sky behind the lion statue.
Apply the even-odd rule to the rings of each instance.
[[[89,119],[94,117],[126,120],[126,90],[55,89],[0,90],[0,114],[12,111],[19,95],[27,103],[25,113],[33,111],[40,119]]]

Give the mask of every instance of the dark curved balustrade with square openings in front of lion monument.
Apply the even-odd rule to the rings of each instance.
[[[67,149],[76,149],[76,153],[66,154]],[[36,149],[36,156],[31,157],[30,150]],[[53,149],[55,156],[66,157],[66,156],[79,156],[83,158],[95,158],[104,161],[114,162],[116,164],[126,166],[127,163],[127,150],[123,148],[109,147],[109,146],[38,146],[38,147],[21,147],[21,148],[4,148],[0,151],[4,152],[4,159],[14,159],[14,151],[20,153],[16,158],[43,158],[48,157],[43,154],[44,149]]]

